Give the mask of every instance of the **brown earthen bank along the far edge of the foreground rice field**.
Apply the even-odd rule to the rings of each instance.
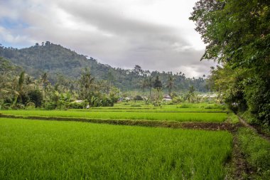
[[[91,122],[97,124],[109,125],[129,125],[142,127],[169,127],[181,129],[206,129],[206,130],[227,130],[234,132],[240,123],[232,124],[229,122],[174,122],[174,121],[156,121],[156,120],[114,120],[114,119],[88,119],[80,117],[43,117],[43,116],[21,116],[21,115],[3,115],[0,117],[27,119],[27,120],[54,120],[54,121],[73,121],[73,122]]]

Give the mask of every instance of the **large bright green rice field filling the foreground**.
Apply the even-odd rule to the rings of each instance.
[[[0,118],[0,179],[224,179],[232,134]]]

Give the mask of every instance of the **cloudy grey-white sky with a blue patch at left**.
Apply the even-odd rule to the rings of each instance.
[[[50,41],[115,68],[198,78],[212,61],[188,17],[196,0],[0,0],[0,43]]]

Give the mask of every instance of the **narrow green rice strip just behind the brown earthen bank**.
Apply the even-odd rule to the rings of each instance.
[[[224,122],[225,112],[85,112],[60,110],[3,110],[4,115],[43,116],[43,117],[79,117],[115,120],[168,120],[178,122]]]

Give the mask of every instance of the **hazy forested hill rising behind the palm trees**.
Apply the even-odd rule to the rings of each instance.
[[[77,54],[75,51],[49,41],[43,45],[36,43],[36,46],[22,49],[0,46],[0,56],[21,66],[28,75],[33,77],[37,78],[43,73],[48,73],[52,83],[59,75],[76,80],[80,77],[82,68],[90,68],[97,80],[107,80],[123,91],[141,90],[146,86],[143,82],[144,78],[149,75],[153,77],[153,80],[158,75],[163,88],[168,84],[168,76],[171,75],[174,83],[173,90],[188,90],[190,85],[193,85],[195,90],[207,91],[204,78],[186,78],[184,73],[150,72],[142,70],[139,65],[136,65],[133,70],[112,68],[110,65],[98,63],[94,58],[87,58],[85,55]]]

